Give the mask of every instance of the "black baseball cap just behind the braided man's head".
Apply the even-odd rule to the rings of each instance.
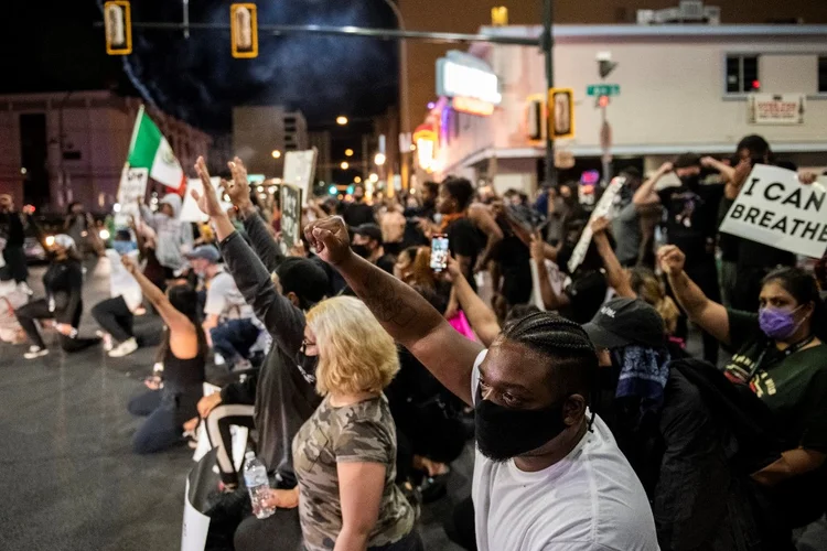
[[[591,322],[583,325],[598,348],[640,345],[664,346],[666,328],[660,314],[641,299],[613,299],[603,304]]]

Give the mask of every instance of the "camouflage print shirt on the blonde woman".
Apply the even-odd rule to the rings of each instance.
[[[415,511],[394,482],[396,425],[387,399],[382,395],[333,408],[325,398],[293,440],[299,515],[308,551],[333,549],[342,531],[337,463],[380,463],[386,467],[379,518],[368,548],[394,543],[410,533]]]

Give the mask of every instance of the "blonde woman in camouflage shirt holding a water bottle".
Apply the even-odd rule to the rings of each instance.
[[[399,370],[393,338],[351,296],[307,315],[302,353],[318,356],[324,397],[293,440],[299,485],[273,505],[299,499],[304,549],[414,551],[416,514],[395,485],[396,426],[383,390]]]

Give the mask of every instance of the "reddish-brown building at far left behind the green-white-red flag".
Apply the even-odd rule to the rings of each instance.
[[[115,203],[141,101],[105,90],[0,96],[0,193],[18,205],[92,212]],[[147,108],[184,168],[206,155],[210,137]]]

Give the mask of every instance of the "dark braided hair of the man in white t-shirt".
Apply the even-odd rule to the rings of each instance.
[[[558,314],[535,312],[506,324],[501,338],[519,343],[551,361],[549,385],[589,403],[598,375],[598,356],[583,328]]]

